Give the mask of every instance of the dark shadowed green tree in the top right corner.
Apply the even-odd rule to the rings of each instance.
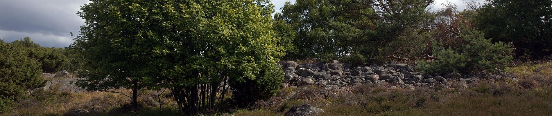
[[[552,1],[487,2],[476,18],[485,37],[513,42],[516,56],[540,59],[552,54]]]

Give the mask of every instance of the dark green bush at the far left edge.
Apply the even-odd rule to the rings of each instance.
[[[25,97],[25,90],[43,83],[40,63],[26,54],[24,46],[0,39],[0,112],[13,108],[15,100]]]

